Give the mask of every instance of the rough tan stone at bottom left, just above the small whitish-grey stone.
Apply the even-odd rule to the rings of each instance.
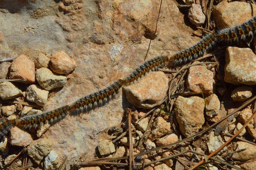
[[[52,150],[52,145],[53,141],[51,139],[37,139],[28,146],[28,155],[39,165],[43,158]]]

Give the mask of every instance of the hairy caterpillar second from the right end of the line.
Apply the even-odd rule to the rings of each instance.
[[[174,65],[185,64],[192,59],[203,56],[204,52],[212,48],[215,45],[217,40],[216,33],[206,35],[202,38],[201,41],[189,47],[185,50],[182,50],[171,57],[171,61],[174,62]]]

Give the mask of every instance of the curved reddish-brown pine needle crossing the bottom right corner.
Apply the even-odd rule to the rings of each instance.
[[[242,132],[242,130],[253,120],[253,118],[256,116],[256,112],[252,114],[250,119],[244,124],[244,126],[239,129],[235,135],[233,135],[227,142],[225,142],[223,145],[221,145],[216,151],[212,152],[210,155],[207,156],[207,158],[211,158],[213,155],[217,154],[220,150],[222,150],[229,142],[231,142],[237,135]],[[192,166],[189,170],[195,169],[196,167],[200,166],[202,163],[204,163],[204,160],[201,160],[196,165]]]

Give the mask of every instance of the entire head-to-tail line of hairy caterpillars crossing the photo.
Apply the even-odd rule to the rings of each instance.
[[[172,55],[171,58],[160,56],[148,60],[136,68],[124,80],[118,80],[105,89],[80,98],[71,105],[66,105],[50,112],[26,115],[17,120],[5,120],[0,124],[0,136],[7,135],[13,126],[21,129],[37,128],[47,122],[54,124],[63,119],[67,114],[88,112],[108,103],[123,86],[137,81],[150,71],[157,71],[159,67],[163,67],[168,61],[173,62],[175,65],[185,64],[203,56],[204,52],[210,50],[217,42],[239,42],[253,37],[255,34],[256,16],[239,26],[226,28],[206,35],[195,45]]]

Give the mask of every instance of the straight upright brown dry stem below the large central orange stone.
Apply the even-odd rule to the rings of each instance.
[[[129,135],[129,169],[135,168],[133,157],[133,143],[132,143],[132,109],[126,108],[126,115],[128,119],[128,135]]]

